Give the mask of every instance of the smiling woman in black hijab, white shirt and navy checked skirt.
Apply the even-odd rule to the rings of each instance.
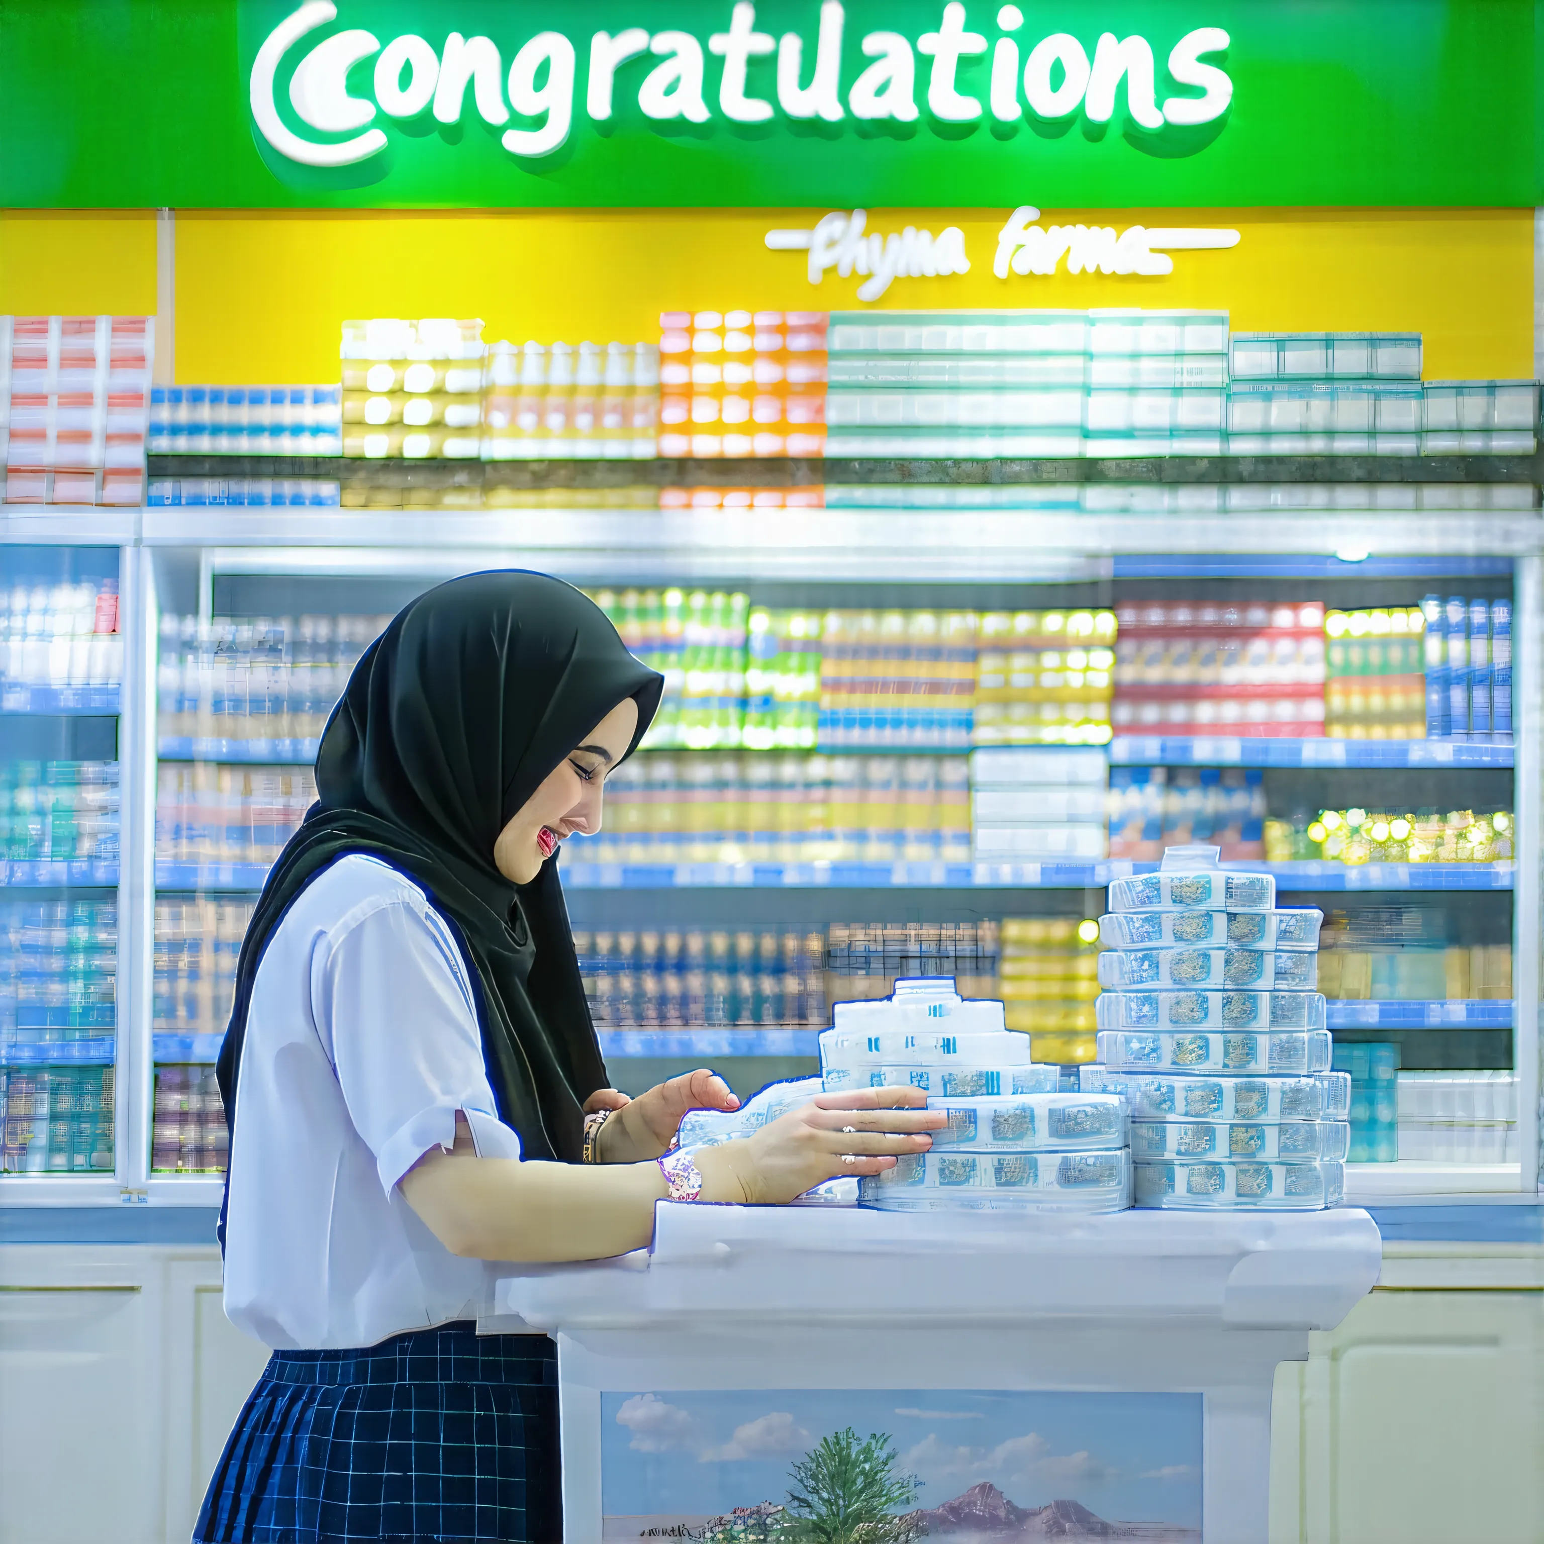
[[[554,1348],[477,1337],[485,1261],[638,1249],[659,1200],[787,1201],[942,1124],[911,1090],[823,1095],[667,1152],[727,1087],[605,1087],[557,849],[599,829],[661,686],[531,573],[431,590],[355,669],[221,1050],[225,1312],[275,1354],[199,1544],[556,1544]]]

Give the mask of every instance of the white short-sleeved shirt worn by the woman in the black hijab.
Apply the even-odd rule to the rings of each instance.
[[[412,880],[338,858],[278,925],[252,987],[225,1220],[225,1314],[276,1349],[369,1346],[474,1319],[486,1266],[452,1255],[397,1181],[466,1115],[496,1115],[471,980]]]

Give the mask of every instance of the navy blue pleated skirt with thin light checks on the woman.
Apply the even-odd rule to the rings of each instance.
[[[195,1544],[560,1544],[557,1348],[469,1322],[363,1351],[275,1351]]]

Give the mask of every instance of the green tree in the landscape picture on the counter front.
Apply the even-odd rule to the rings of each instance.
[[[896,1473],[888,1433],[865,1441],[852,1427],[821,1437],[792,1468],[791,1544],[911,1544],[917,1527],[897,1512],[916,1505],[920,1481]]]

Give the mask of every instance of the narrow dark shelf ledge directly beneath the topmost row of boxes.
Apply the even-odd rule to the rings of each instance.
[[[656,488],[809,483],[1541,483],[1535,455],[1136,455],[690,460],[360,460],[334,455],[151,455],[151,477],[327,477],[418,488]]]

